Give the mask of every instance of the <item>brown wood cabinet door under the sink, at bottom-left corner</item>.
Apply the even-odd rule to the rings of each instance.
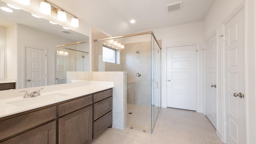
[[[44,124],[1,144],[56,144],[56,121]]]

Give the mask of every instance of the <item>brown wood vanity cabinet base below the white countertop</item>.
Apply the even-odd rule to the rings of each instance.
[[[112,127],[112,89],[0,118],[0,144],[89,144]]]

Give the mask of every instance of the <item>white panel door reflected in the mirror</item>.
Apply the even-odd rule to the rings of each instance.
[[[26,88],[45,86],[45,50],[26,47]]]

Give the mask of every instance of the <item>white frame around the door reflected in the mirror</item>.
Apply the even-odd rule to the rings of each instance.
[[[28,45],[23,45],[23,64],[24,64],[24,67],[23,67],[23,87],[26,87],[26,48],[34,48],[33,46],[28,46]],[[38,50],[44,50],[44,70],[45,70],[45,74],[46,76],[44,77],[44,83],[45,83],[45,86],[47,86],[47,77],[48,77],[48,74],[47,74],[47,49],[40,49],[40,48],[34,48],[34,49],[38,49]]]

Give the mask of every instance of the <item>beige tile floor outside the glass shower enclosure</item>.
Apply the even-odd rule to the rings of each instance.
[[[161,108],[153,134],[108,128],[91,144],[224,144],[201,113]]]

